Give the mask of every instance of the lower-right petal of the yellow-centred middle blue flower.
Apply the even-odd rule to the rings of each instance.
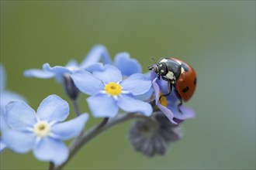
[[[151,105],[147,102],[137,100],[128,95],[120,95],[117,105],[126,112],[140,112],[146,116],[150,116],[153,111]]]

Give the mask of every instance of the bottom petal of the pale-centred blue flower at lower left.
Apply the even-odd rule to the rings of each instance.
[[[55,165],[61,165],[68,157],[67,146],[61,140],[53,138],[43,138],[33,149],[33,153],[38,160],[54,162]]]

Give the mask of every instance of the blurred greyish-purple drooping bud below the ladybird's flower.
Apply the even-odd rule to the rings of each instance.
[[[161,111],[154,112],[152,119],[134,122],[129,133],[133,148],[149,157],[164,155],[168,144],[182,138],[178,125],[171,124]]]

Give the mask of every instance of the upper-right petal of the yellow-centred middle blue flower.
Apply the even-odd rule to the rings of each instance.
[[[122,86],[122,90],[127,90],[130,93],[133,93],[133,95],[144,94],[150,90],[151,87],[151,81],[147,80],[147,77],[140,73],[129,76],[120,84]]]

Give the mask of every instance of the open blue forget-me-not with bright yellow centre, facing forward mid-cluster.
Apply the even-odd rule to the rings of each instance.
[[[152,113],[150,104],[135,98],[150,90],[151,82],[143,74],[133,74],[123,80],[121,72],[107,64],[103,71],[78,70],[71,77],[81,92],[91,96],[87,101],[94,117],[115,117],[119,108],[147,116]]]

